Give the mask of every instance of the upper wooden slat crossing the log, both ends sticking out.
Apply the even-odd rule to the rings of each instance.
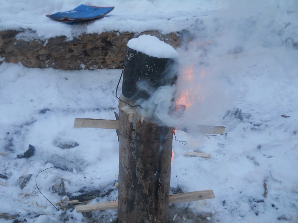
[[[119,120],[106,120],[106,119],[91,119],[91,118],[75,118],[74,128],[106,128],[106,129],[119,129]],[[226,127],[212,126],[212,125],[197,125],[198,133],[203,134],[223,134]],[[187,132],[187,129],[179,129]]]

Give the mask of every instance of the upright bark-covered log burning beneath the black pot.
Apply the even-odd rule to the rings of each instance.
[[[119,103],[119,223],[166,223],[173,128]]]

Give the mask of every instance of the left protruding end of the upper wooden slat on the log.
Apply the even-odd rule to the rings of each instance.
[[[119,129],[119,120],[75,118],[74,128]]]

